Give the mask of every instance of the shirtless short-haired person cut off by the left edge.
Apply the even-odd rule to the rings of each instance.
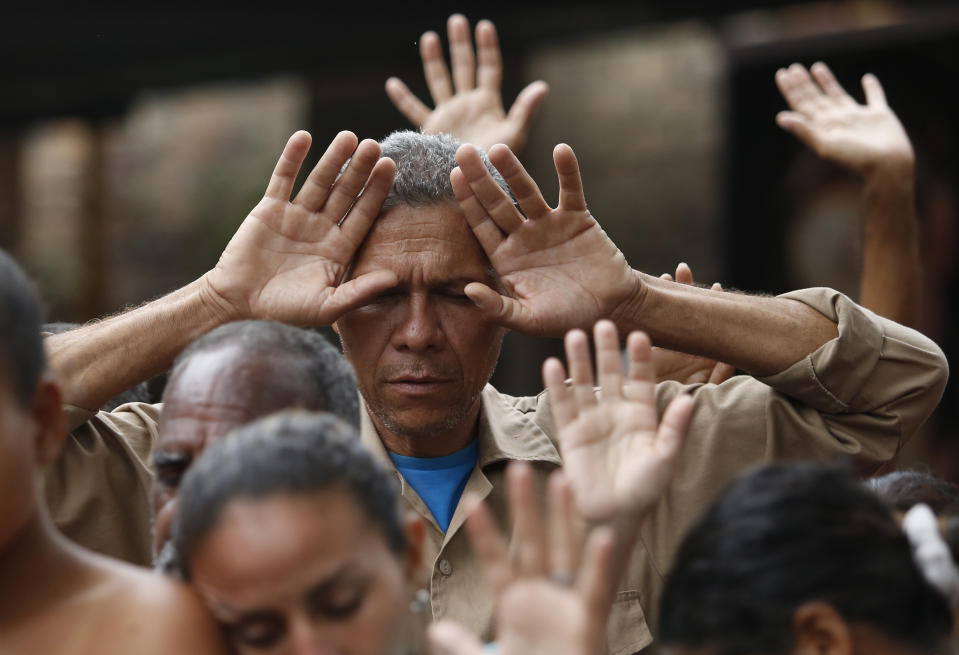
[[[215,623],[183,585],[64,539],[42,500],[64,435],[39,303],[0,251],[0,650],[221,653]]]

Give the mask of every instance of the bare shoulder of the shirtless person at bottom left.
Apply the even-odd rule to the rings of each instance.
[[[109,632],[118,652],[224,653],[221,633],[200,598],[185,584],[149,569],[99,559],[108,580]]]

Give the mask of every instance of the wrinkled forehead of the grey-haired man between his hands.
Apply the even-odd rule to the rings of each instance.
[[[490,277],[490,262],[456,203],[399,204],[376,219],[353,262],[353,276],[372,270],[402,280],[426,277]]]

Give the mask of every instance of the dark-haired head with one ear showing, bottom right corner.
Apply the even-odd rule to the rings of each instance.
[[[946,655],[950,602],[915,548],[890,508],[847,472],[758,469],[683,539],[663,592],[661,648]]]

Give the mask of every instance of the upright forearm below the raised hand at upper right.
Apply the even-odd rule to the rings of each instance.
[[[913,167],[867,176],[865,205],[859,301],[880,316],[916,327],[921,273]]]

